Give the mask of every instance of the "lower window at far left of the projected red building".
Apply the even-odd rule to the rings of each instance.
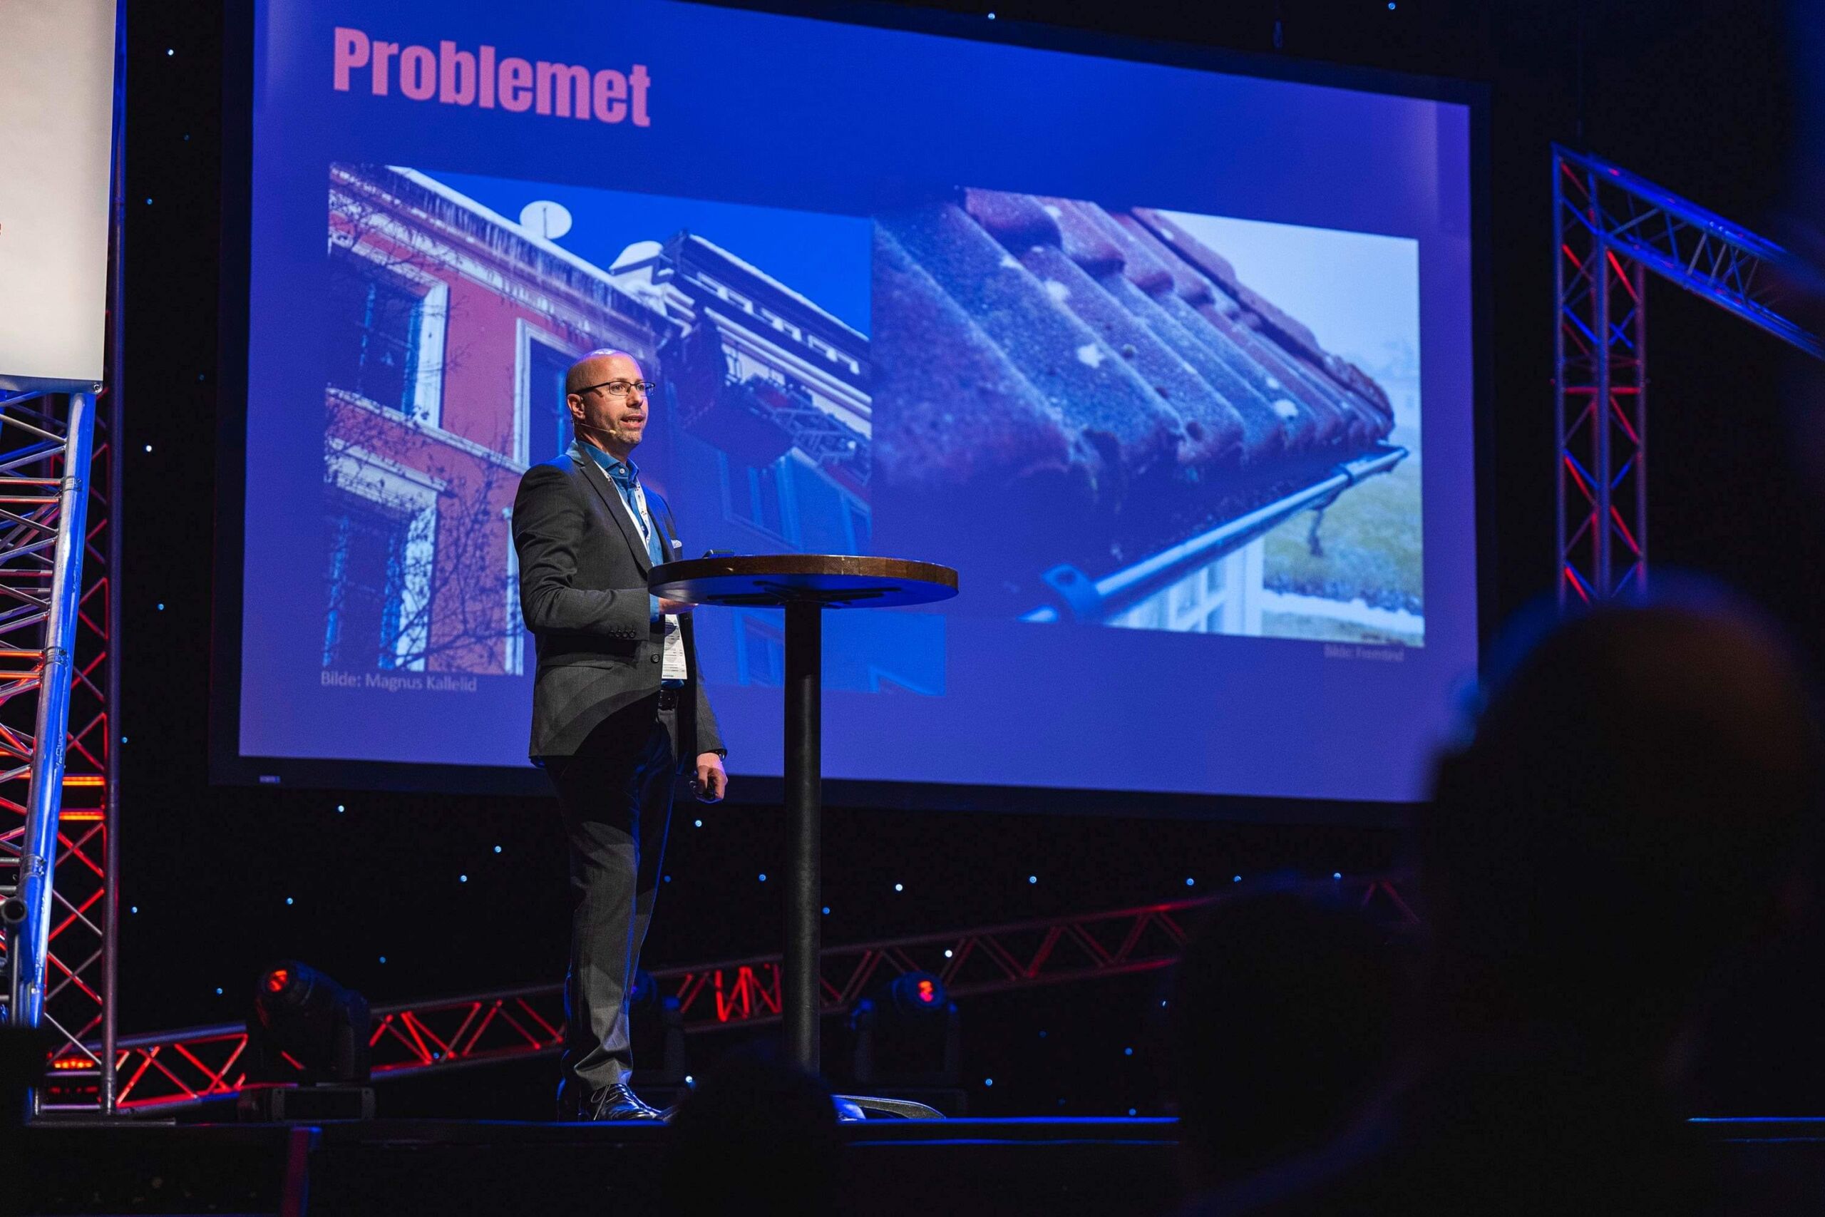
[[[325,491],[323,507],[323,666],[398,668],[412,520],[338,489]]]

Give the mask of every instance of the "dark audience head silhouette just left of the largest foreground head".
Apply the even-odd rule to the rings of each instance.
[[[1173,976],[1170,1087],[1210,1186],[1318,1149],[1383,1078],[1403,952],[1350,909],[1281,890],[1210,910]]]

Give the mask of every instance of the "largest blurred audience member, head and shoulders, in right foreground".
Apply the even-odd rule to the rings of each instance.
[[[1674,1087],[1712,1000],[1805,903],[1820,739],[1799,664],[1757,613],[1679,584],[1522,619],[1484,690],[1416,825],[1413,1051],[1345,1135],[1192,1212],[1726,1206],[1728,1162]]]

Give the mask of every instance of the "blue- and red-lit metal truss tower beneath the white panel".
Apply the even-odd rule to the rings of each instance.
[[[104,409],[99,425],[88,392],[0,401],[0,1022],[49,1031],[51,1069],[86,1075],[75,1106],[91,1111],[113,1106],[115,1036],[119,420]]]

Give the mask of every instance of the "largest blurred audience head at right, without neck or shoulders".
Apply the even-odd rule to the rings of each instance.
[[[1694,584],[1524,620],[1487,668],[1418,832],[1440,1013],[1664,1053],[1803,894],[1820,750],[1799,666]]]

